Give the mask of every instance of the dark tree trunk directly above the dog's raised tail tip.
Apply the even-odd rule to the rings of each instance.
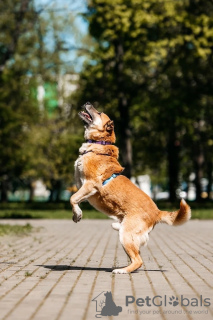
[[[169,200],[171,202],[174,202],[177,198],[176,190],[178,188],[179,153],[180,153],[180,142],[176,139],[176,136],[172,131],[170,133],[170,136],[168,139],[168,145],[167,145]]]

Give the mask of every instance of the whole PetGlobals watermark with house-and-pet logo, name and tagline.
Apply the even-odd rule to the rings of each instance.
[[[94,304],[95,317],[110,317],[121,316],[123,313],[128,314],[208,314],[208,307],[211,306],[210,298],[200,295],[199,297],[188,297],[186,295],[180,295],[178,297],[174,295],[156,295],[156,296],[144,296],[134,297],[127,295],[119,297],[119,300],[123,301],[120,305],[117,305],[113,299],[111,291],[102,291],[95,298],[92,299]]]

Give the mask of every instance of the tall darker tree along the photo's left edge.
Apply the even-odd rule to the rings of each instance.
[[[32,103],[30,88],[33,80],[27,77],[32,46],[34,12],[32,1],[0,3],[0,181],[1,199],[7,200],[8,183],[21,173],[25,159],[23,141],[37,109]],[[10,23],[8,24],[8,21]],[[30,108],[29,108],[30,104]]]

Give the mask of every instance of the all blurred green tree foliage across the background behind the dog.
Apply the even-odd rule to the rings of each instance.
[[[32,188],[40,177],[51,190],[73,183],[83,140],[76,106],[86,101],[115,120],[128,176],[149,173],[154,183],[169,184],[174,200],[180,180],[194,171],[197,199],[203,177],[210,194],[212,1],[90,0],[83,16],[85,39],[72,14],[36,11],[33,0],[0,2],[2,200],[9,187]],[[85,41],[88,50],[79,48],[79,57],[87,53],[88,59],[72,107],[71,99],[57,107],[56,83],[74,69],[63,63],[68,32],[76,35],[76,47]],[[43,103],[37,101],[40,85],[54,88]]]

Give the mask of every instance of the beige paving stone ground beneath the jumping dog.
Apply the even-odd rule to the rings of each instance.
[[[111,273],[128,260],[110,220],[1,221],[27,222],[30,235],[0,238],[0,319],[213,319],[213,221],[156,226],[126,275]],[[118,315],[101,315],[107,291]]]

